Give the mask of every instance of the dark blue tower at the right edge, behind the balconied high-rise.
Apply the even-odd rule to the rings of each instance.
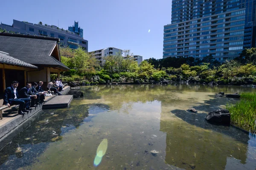
[[[244,48],[255,47],[256,41],[256,0],[246,0],[245,6],[245,28],[244,28]]]

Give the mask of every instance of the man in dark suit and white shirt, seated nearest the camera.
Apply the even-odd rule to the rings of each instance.
[[[12,86],[8,87],[4,91],[3,95],[3,105],[8,105],[11,107],[11,105],[19,105],[19,111],[18,114],[25,114],[24,112],[27,112],[32,110],[29,108],[30,99],[22,99],[20,98],[17,87],[19,85],[19,82],[13,81]]]

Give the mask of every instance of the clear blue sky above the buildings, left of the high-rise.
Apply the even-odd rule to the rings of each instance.
[[[5,0],[0,22],[28,21],[67,29],[79,21],[88,50],[130,49],[143,59],[163,57],[163,26],[171,23],[172,0]],[[148,30],[150,32],[148,33]]]

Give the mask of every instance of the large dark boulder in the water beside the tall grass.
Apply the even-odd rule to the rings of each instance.
[[[208,113],[205,119],[211,123],[230,125],[230,113],[227,109],[212,111]]]

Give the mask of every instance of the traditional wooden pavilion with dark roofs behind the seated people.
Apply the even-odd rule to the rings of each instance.
[[[39,81],[46,87],[51,81],[51,73],[59,77],[60,71],[68,71],[69,68],[61,62],[58,42],[58,38],[52,37],[0,33],[1,56],[5,57],[0,60],[1,91],[14,80],[20,82],[20,88],[27,82]],[[4,62],[6,59],[12,62]]]

